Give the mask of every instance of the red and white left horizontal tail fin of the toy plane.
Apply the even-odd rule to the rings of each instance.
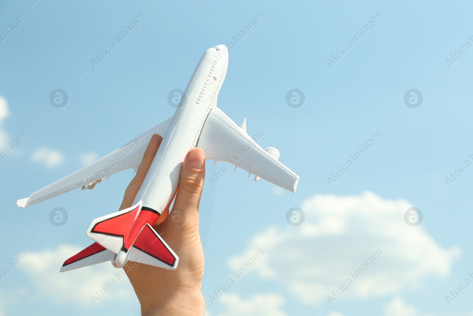
[[[66,260],[59,271],[70,271],[88,265],[110,261],[113,260],[114,257],[114,253],[106,250],[101,245],[94,243]]]

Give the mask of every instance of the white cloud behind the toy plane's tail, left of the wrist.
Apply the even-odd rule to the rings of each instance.
[[[31,282],[29,287],[21,291],[32,300],[85,308],[94,305],[91,296],[96,296],[96,290],[114,279],[116,284],[107,292],[102,292],[104,295],[95,301],[96,305],[109,300],[134,299],[130,295],[133,289],[128,278],[123,272],[119,275],[120,279],[115,275],[123,270],[114,268],[110,262],[59,272],[61,264],[80,250],[82,248],[77,246],[61,244],[54,250],[28,252],[17,269],[21,269]]]

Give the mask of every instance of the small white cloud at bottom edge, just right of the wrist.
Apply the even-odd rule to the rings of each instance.
[[[285,305],[285,299],[275,293],[255,293],[248,298],[242,298],[238,293],[226,293],[218,302],[225,306],[226,311],[217,316],[288,315],[281,309]],[[210,313],[206,312],[205,315],[209,316]]]

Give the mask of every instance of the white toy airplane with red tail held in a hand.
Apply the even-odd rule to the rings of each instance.
[[[117,268],[134,261],[175,269],[178,256],[152,226],[174,199],[182,163],[193,147],[200,147],[214,164],[232,163],[235,170],[240,167],[247,171],[248,177],[254,174],[255,181],[264,179],[296,192],[299,176],[278,161],[279,151],[273,147],[263,150],[256,144],[246,133],[246,118],[238,126],[217,108],[227,67],[227,47],[209,48],[197,64],[173,117],[142,133],[142,138],[17,201],[20,208],[26,208],[80,187],[93,189],[103,178],[108,180],[125,169],[136,172],[151,136],[163,137],[133,206],[92,221],[87,235],[96,243],[66,260],[61,272],[105,261]]]

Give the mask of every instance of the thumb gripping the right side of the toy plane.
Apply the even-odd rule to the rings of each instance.
[[[205,177],[205,155],[200,148],[193,148],[185,156],[181,176],[179,179],[179,190],[177,191],[173,210],[182,208],[187,221],[199,223],[199,203]],[[168,219],[169,220],[169,219]]]

